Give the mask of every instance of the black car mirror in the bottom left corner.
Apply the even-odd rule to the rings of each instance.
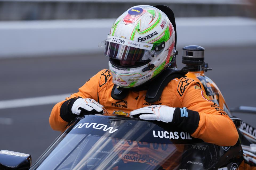
[[[29,169],[31,155],[7,150],[0,151],[0,169]]]

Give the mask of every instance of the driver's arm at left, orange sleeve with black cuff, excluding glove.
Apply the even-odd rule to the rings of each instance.
[[[70,109],[76,98],[90,98],[98,101],[98,80],[101,73],[102,71],[90,78],[81,88],[78,89],[79,91],[77,93],[71,94],[70,97],[66,98],[66,100],[57,103],[53,107],[49,118],[49,123],[53,130],[64,130],[69,122],[77,117],[77,115],[73,114]]]

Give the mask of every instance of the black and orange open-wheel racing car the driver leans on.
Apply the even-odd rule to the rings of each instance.
[[[206,143],[165,122],[118,114],[80,115],[32,167],[31,155],[1,150],[0,169],[256,169],[256,129],[231,114],[256,109],[228,108],[217,85],[205,76],[211,69],[204,62],[204,50],[183,47],[186,76],[197,80],[205,97],[233,120],[239,134],[234,146]]]

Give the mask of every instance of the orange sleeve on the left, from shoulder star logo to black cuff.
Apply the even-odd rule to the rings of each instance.
[[[64,121],[60,116],[61,105],[65,101],[75,97],[90,98],[98,101],[98,84],[100,82],[99,79],[103,79],[104,76],[101,75],[105,74],[105,72],[107,71],[108,70],[101,70],[99,73],[90,78],[81,88],[79,88],[79,91],[77,93],[71,94],[70,97],[66,98],[66,100],[55,104],[49,118],[49,123],[53,130],[63,131],[68,125],[68,122]],[[109,78],[109,76],[107,78]],[[103,83],[104,81],[105,79],[103,80]]]

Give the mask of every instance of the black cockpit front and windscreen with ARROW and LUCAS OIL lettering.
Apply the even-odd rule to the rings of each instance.
[[[234,120],[238,126],[240,121]],[[70,141],[77,135],[82,135],[80,143]],[[243,140],[239,133],[235,146],[222,147],[193,138],[168,123],[113,115],[84,115],[71,122],[31,169],[165,169],[166,163],[174,162],[170,169],[238,168],[243,166]],[[70,149],[65,153],[67,145]],[[133,148],[129,148],[131,146]],[[121,147],[130,151],[125,153]],[[130,156],[130,161],[125,160],[127,155],[132,155],[130,152],[134,155],[135,149],[149,156],[143,158],[137,153],[136,158]],[[155,158],[157,163],[150,163],[146,158]]]

